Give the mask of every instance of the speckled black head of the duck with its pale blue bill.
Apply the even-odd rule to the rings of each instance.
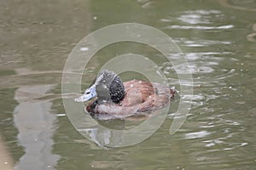
[[[85,102],[95,97],[98,102],[119,103],[125,97],[125,88],[119,76],[113,71],[101,71],[90,88],[87,88],[75,101]]]

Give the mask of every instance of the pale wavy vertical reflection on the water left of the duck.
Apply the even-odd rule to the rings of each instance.
[[[19,131],[18,142],[26,153],[15,169],[52,169],[60,156],[52,154],[55,115],[50,113],[51,102],[34,100],[44,96],[51,86],[20,87],[15,92],[14,122]]]

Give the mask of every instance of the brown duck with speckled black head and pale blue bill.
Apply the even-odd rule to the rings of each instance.
[[[159,110],[174,99],[177,90],[159,82],[131,80],[122,82],[113,71],[102,70],[84,94],[74,99],[76,102],[90,103],[86,111],[91,116],[123,118],[138,116]]]

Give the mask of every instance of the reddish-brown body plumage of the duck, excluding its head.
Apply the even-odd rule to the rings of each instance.
[[[123,82],[125,97],[119,103],[97,103],[93,100],[86,110],[92,114],[108,114],[114,117],[134,116],[142,112],[160,109],[169,104],[176,91],[157,82],[133,80]]]

